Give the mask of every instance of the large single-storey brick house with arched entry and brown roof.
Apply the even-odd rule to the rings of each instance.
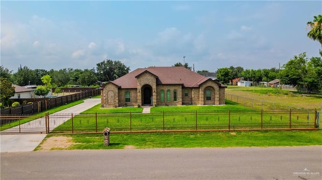
[[[225,103],[225,88],[184,67],[139,68],[104,84],[101,106],[218,105]]]

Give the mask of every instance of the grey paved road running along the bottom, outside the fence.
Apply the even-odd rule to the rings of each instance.
[[[1,179],[321,179],[321,150],[322,146],[300,146],[2,152]]]

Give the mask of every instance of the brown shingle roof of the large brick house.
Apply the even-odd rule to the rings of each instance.
[[[209,79],[181,66],[138,68],[111,82],[120,86],[121,88],[137,88],[136,77],[146,71],[155,76],[157,85],[181,84],[184,87],[198,87],[200,84]],[[221,84],[220,86],[225,87]]]

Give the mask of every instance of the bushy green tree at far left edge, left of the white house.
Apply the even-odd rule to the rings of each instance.
[[[7,78],[0,77],[0,102],[9,106],[8,100],[15,95],[15,87]]]

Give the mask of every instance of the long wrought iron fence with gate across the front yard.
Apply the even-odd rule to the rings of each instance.
[[[25,122],[25,116],[1,116],[19,119],[19,124],[1,133],[96,133],[106,127],[111,131],[178,131],[238,129],[316,129],[315,109],[189,111],[151,113],[46,114]],[[17,123],[17,120],[15,121]],[[10,121],[9,123],[13,123]],[[8,125],[2,124],[2,127]]]

